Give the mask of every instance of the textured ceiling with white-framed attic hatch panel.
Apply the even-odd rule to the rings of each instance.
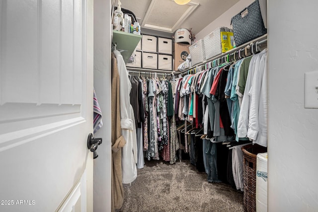
[[[173,0],[121,0],[122,8],[131,10],[142,28],[174,33],[176,29],[200,32],[239,0],[191,0],[178,5]],[[115,2],[117,5],[117,0]]]

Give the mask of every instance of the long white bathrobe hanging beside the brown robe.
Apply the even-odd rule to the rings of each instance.
[[[126,140],[122,149],[123,184],[129,184],[137,178],[137,138],[133,107],[130,104],[131,82],[124,59],[114,50],[120,76],[120,118],[121,132]]]

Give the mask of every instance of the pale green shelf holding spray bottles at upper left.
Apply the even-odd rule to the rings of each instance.
[[[123,56],[125,64],[128,62],[128,59],[133,54],[141,38],[142,35],[113,30],[112,42],[113,44],[116,43],[116,49]]]

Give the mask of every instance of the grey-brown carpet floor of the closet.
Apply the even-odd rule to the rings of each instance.
[[[229,184],[208,183],[189,160],[145,161],[131,185],[124,185],[119,212],[243,212],[243,193]]]

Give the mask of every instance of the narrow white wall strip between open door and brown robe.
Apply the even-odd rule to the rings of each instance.
[[[94,159],[94,212],[111,211],[111,2],[94,0],[94,88],[102,111],[103,138]],[[92,101],[92,100],[91,100]]]

